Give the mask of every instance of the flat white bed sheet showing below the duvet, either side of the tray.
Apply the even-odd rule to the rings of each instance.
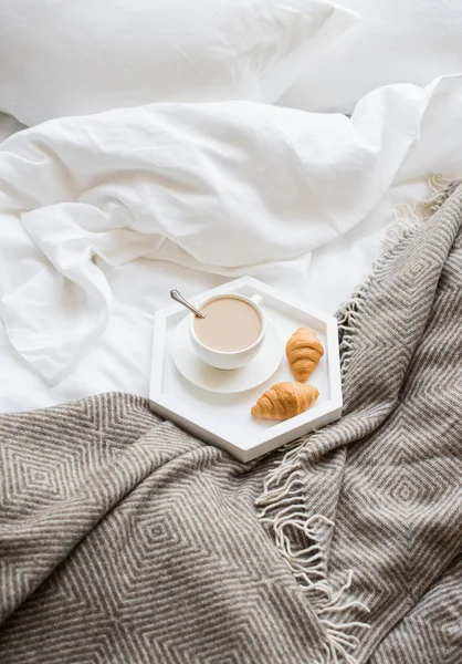
[[[307,266],[307,301],[334,313],[370,272],[381,252],[392,207],[426,193],[424,177],[393,187],[380,206],[346,236],[313,252]],[[168,303],[151,284],[161,274],[168,286],[193,294],[225,279],[147,259],[108,274],[114,309],[107,330],[72,374],[59,385],[41,378],[12,347],[0,320],[0,412],[41,408],[91,394],[123,391],[147,396],[150,377],[153,313]],[[130,284],[130,288],[127,286]]]

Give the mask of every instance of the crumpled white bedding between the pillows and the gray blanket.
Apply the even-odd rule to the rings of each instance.
[[[421,196],[430,170],[461,175],[461,111],[450,76],[375,91],[350,120],[155,104],[11,136],[0,408],[147,394],[153,314],[172,287],[250,273],[335,310],[377,256],[390,204]]]

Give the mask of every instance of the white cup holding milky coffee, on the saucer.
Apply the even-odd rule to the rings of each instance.
[[[209,300],[206,300],[204,302],[202,302],[202,304],[199,307],[199,309],[201,309],[206,304],[209,304],[210,302],[213,302],[214,300],[222,300],[224,298],[227,298],[227,299],[232,298],[232,299],[241,300],[243,302],[246,302],[254,309],[254,311],[259,314],[260,322],[261,322],[261,332],[260,332],[259,338],[248,347],[240,349],[238,351],[218,351],[216,349],[208,347],[198,339],[198,336],[196,334],[196,330],[195,330],[196,315],[193,313],[191,313],[190,321],[189,321],[189,332],[190,332],[191,343],[192,343],[192,347],[195,349],[198,356],[202,360],[202,362],[206,362],[206,364],[209,364],[210,366],[214,366],[216,369],[223,369],[223,370],[240,369],[241,366],[245,366],[245,364],[248,364],[255,357],[255,355],[259,353],[260,349],[262,347],[262,344],[264,341],[264,335],[265,335],[265,331],[266,331],[266,322],[265,322],[264,313],[263,313],[262,309],[260,308],[260,302],[262,301],[262,298],[260,295],[253,295],[252,298],[245,298],[244,295],[238,295],[235,293],[223,293],[221,295],[216,295],[214,298],[210,298]]]

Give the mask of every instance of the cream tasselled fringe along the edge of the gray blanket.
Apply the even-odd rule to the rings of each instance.
[[[378,270],[396,255],[402,239],[410,237],[418,226],[429,219],[452,193],[453,184],[440,174],[427,178],[427,196],[417,203],[407,203],[393,209],[395,220],[386,231],[382,255],[374,266]],[[358,328],[371,277],[353,293],[340,308],[338,318],[342,378],[344,380],[353,354],[355,332]],[[360,601],[347,599],[353,581],[353,570],[339,590],[334,592],[327,580],[327,560],[322,541],[326,541],[334,521],[322,513],[308,513],[305,501],[306,469],[301,452],[313,434],[282,448],[283,458],[266,476],[263,494],[256,505],[259,518],[270,528],[276,547],[298,582],[301,590],[309,593],[311,604],[325,634],[324,657],[321,664],[356,664],[354,652],[359,639],[351,631],[369,629],[361,621],[351,620],[351,612],[369,609]],[[298,532],[308,543],[294,548],[291,533]],[[300,538],[297,538],[300,540]],[[294,537],[292,538],[292,541]]]

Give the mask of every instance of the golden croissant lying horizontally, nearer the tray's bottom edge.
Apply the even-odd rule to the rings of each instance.
[[[317,387],[303,383],[276,383],[259,398],[251,413],[265,419],[288,419],[304,413],[319,396]]]

